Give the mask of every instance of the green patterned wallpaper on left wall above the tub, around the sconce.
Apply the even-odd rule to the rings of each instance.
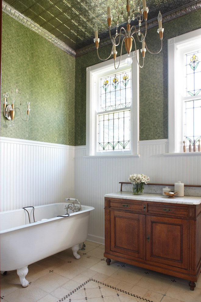
[[[1,103],[1,136],[74,146],[75,58],[2,13],[1,99],[16,82],[24,119],[30,101],[29,120],[16,110],[10,127]]]

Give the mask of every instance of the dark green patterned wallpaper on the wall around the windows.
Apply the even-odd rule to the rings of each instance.
[[[201,10],[163,24],[163,49],[157,55],[145,54],[144,67],[139,70],[139,139],[168,138],[168,39],[201,27]],[[160,48],[157,28],[147,31],[150,51]],[[141,48],[141,47],[140,47]],[[110,47],[99,49],[106,57]],[[118,49],[117,49],[118,51]],[[125,51],[124,51],[125,53]],[[100,63],[93,51],[76,58],[75,145],[86,144],[86,67]]]

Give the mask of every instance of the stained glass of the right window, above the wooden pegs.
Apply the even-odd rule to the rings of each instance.
[[[200,139],[201,127],[201,50],[185,55],[184,139],[186,146]],[[192,97],[192,98],[191,98]],[[196,144],[197,145],[197,144]]]

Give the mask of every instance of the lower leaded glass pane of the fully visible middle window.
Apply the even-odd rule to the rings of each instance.
[[[130,149],[130,110],[98,115],[98,151]]]

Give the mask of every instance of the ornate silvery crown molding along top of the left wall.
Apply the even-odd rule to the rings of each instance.
[[[55,44],[57,47],[64,50],[65,52],[67,52],[69,55],[71,55],[73,57],[76,56],[76,52],[71,47],[66,45],[61,40],[59,40],[59,39],[55,38],[54,36],[52,36],[48,31],[46,31],[45,29],[43,29],[42,27],[37,25],[35,22],[30,20],[29,18],[25,17],[23,14],[19,13],[16,9],[14,9],[12,6],[5,3],[4,1],[2,1],[2,11],[7,13],[9,16],[13,17],[14,19],[19,21],[20,23],[26,25],[32,31],[35,31],[37,34],[40,34],[42,37],[44,37],[48,41]]]

